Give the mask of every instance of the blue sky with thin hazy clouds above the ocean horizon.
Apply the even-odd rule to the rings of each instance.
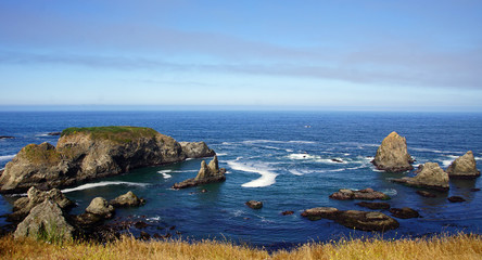
[[[0,1],[0,109],[482,112],[482,1]]]

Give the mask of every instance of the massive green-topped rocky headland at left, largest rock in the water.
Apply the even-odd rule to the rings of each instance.
[[[194,152],[189,150],[188,154],[195,157],[212,154],[204,150]],[[150,128],[68,128],[62,132],[56,147],[42,143],[22,148],[5,166],[0,192],[20,193],[30,186],[64,187],[187,157],[176,140]]]

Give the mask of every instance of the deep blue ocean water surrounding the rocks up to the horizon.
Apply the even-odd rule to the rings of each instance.
[[[373,112],[4,112],[0,113],[0,169],[29,143],[56,143],[48,132],[67,127],[151,127],[177,141],[205,141],[228,170],[227,181],[174,191],[170,186],[196,174],[201,159],[136,169],[127,174],[64,190],[76,200],[73,213],[83,212],[97,196],[112,199],[127,191],[148,204],[117,209],[116,218],[143,220],[151,235],[173,233],[191,239],[220,238],[266,247],[283,247],[340,236],[371,236],[380,233],[346,229],[331,220],[309,221],[300,216],[307,208],[359,209],[356,202],[328,196],[339,188],[372,187],[388,193],[392,207],[410,207],[422,218],[397,219],[397,230],[383,237],[421,236],[433,233],[481,233],[482,192],[477,180],[451,181],[447,193],[436,198],[416,194],[417,188],[390,181],[413,172],[385,173],[370,164],[384,136],[397,131],[407,139],[408,152],[417,160],[446,168],[471,150],[482,168],[482,114],[421,114]],[[342,162],[333,161],[338,159]],[[201,193],[202,188],[208,190]],[[458,195],[466,203],[451,204]],[[16,196],[0,198],[0,214],[11,211]],[[261,210],[248,208],[250,199],[262,200]],[[294,214],[281,212],[293,210]],[[388,211],[383,211],[390,214]],[[0,224],[4,224],[0,218]],[[170,231],[169,226],[176,226]],[[140,230],[129,232],[138,235]]]

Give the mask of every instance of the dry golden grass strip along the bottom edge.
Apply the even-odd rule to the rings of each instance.
[[[230,243],[140,242],[124,237],[106,245],[0,238],[0,259],[482,259],[482,238],[460,234],[428,239],[353,239],[306,244],[291,251],[266,250]]]

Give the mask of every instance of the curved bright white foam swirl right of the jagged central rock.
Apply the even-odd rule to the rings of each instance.
[[[239,161],[228,161],[228,165],[233,170],[261,174],[258,179],[242,184],[241,186],[243,187],[262,187],[272,185],[276,182],[276,177],[278,176],[277,173],[272,172],[271,169],[267,167],[267,165],[263,165],[259,162],[256,164],[256,166],[258,167]]]

